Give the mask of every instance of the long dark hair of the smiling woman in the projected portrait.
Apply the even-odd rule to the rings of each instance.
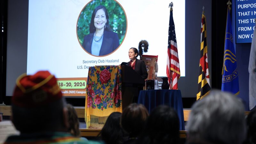
[[[106,22],[106,24],[105,24],[105,25],[106,25],[105,30],[112,31],[112,30],[109,28],[109,16],[108,16],[108,11],[107,11],[107,9],[106,9],[105,6],[99,5],[99,6],[97,6],[97,7],[93,10],[93,12],[92,12],[92,19],[91,19],[91,23],[90,23],[90,33],[94,33],[95,30],[96,30],[96,28],[95,28],[95,26],[94,26],[94,18],[95,18],[96,12],[97,12],[98,10],[100,10],[100,9],[103,9],[103,11],[105,12],[105,15],[106,15],[106,20],[107,20],[107,22]]]

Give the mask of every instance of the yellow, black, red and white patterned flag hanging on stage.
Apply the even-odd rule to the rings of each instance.
[[[207,56],[207,40],[206,40],[206,22],[204,11],[202,13],[202,24],[201,24],[201,55],[199,62],[199,76],[198,76],[198,93],[196,94],[196,100],[200,100],[206,96],[210,90],[210,73],[208,67],[208,56]]]

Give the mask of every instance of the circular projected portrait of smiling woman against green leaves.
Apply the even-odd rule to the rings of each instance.
[[[127,17],[115,0],[92,0],[80,12],[76,35],[85,52],[104,57],[115,52],[123,43]]]

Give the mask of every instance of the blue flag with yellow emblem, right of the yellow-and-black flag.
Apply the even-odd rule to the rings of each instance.
[[[236,52],[233,43],[230,9],[230,5],[228,5],[221,91],[239,94]]]

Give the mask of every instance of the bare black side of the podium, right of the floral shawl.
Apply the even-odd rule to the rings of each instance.
[[[139,96],[139,91],[145,86],[145,80],[130,66],[121,66],[122,72],[122,106],[123,109],[132,103],[134,97]]]

